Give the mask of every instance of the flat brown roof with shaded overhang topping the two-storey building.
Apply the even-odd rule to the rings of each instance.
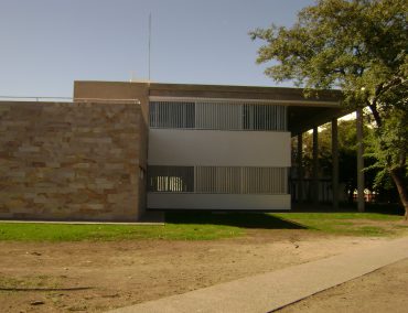
[[[310,97],[302,88],[167,84],[149,82],[75,82],[74,98],[150,100],[232,100],[276,102],[288,106],[288,130],[292,136],[330,122],[353,110],[341,105],[340,90],[315,90]],[[144,100],[143,100],[144,101]]]

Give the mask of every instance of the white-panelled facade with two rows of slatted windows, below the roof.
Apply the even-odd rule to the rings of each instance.
[[[151,97],[149,117],[148,208],[290,208],[286,106]]]

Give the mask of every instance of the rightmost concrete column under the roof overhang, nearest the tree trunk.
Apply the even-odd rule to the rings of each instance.
[[[356,110],[357,115],[357,208],[358,212],[364,212],[364,144],[363,144],[363,109]]]

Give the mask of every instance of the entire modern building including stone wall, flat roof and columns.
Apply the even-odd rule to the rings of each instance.
[[[43,147],[53,140],[52,131],[42,133],[44,129],[35,128],[39,119],[50,119],[47,104],[32,104],[43,107],[41,114],[36,120],[22,121],[13,112],[15,105],[0,102],[1,132],[15,132],[24,123],[24,129],[32,127],[41,138],[34,143],[22,139],[15,149],[10,149],[10,140],[0,142],[0,152],[6,151],[17,168],[23,168],[19,170],[22,173],[19,180],[10,176],[10,184],[6,184],[12,190],[17,181],[22,183],[19,190],[13,190],[20,203],[10,196],[1,199],[0,217],[135,220],[144,209],[290,209],[291,138],[298,136],[301,151],[301,134],[314,129],[313,179],[318,199],[316,128],[333,122],[336,155],[336,119],[346,114],[340,101],[337,91],[320,91],[305,98],[303,90],[297,88],[75,82],[73,102],[65,106],[79,116],[86,108],[88,127],[75,119],[67,121],[63,115],[54,122],[67,127],[61,130],[58,144],[69,150],[68,159],[80,155],[82,161],[66,162],[65,153],[55,156],[53,164],[44,162],[42,168],[58,175],[64,170],[56,185],[76,196],[66,199],[56,195],[55,188],[47,191],[50,182],[40,184],[45,198],[52,198],[50,203],[37,199],[40,190],[34,183],[21,190],[28,185],[24,181],[32,169],[19,161],[21,147],[28,144],[39,147],[34,150],[40,155],[24,154],[25,159],[36,160],[41,153],[50,155]],[[23,107],[26,110],[28,106]],[[61,104],[52,107],[57,111]],[[95,111],[99,108],[99,115],[94,116],[93,108]],[[67,132],[71,137],[64,143]],[[76,143],[78,140],[80,144]],[[83,142],[87,145],[82,145]],[[101,151],[106,151],[106,160]],[[298,158],[301,163],[302,154],[298,153]],[[3,169],[6,176],[10,166]],[[292,192],[301,201],[304,188],[301,168],[298,173],[299,184]],[[84,181],[80,179],[84,175],[93,177]],[[337,180],[334,158],[334,191]],[[82,202],[76,201],[78,196]],[[51,209],[55,204],[58,214]],[[30,211],[30,205],[35,209]]]

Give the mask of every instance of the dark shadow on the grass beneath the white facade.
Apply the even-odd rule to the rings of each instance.
[[[266,213],[167,212],[171,224],[212,224],[241,228],[307,229],[307,227]]]

